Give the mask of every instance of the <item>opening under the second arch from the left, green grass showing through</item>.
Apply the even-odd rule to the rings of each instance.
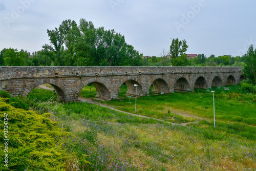
[[[82,88],[78,95],[78,100],[80,98],[101,98],[105,100],[110,100],[110,92],[108,88],[103,83],[100,82],[90,82]],[[82,99],[80,99],[82,100]]]

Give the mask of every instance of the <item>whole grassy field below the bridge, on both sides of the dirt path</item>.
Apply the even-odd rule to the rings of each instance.
[[[33,109],[37,113],[53,113],[55,117],[51,119],[61,121],[59,126],[75,135],[62,140],[70,152],[88,155],[92,163],[86,168],[89,170],[255,169],[256,128],[248,125],[255,125],[255,95],[216,94],[216,127],[212,120],[174,126],[86,103],[45,102]],[[117,108],[127,105],[127,109],[131,108],[127,111],[133,113],[133,100],[132,103],[128,103],[128,99],[104,103]],[[188,96],[175,93],[163,97],[141,97],[138,99],[140,114],[148,115],[148,104],[153,113],[150,116],[162,119],[167,117],[156,113],[162,111],[162,115],[167,115],[168,109],[182,109],[207,118],[211,118],[213,113],[212,94],[190,93]],[[242,106],[247,115],[238,106]]]

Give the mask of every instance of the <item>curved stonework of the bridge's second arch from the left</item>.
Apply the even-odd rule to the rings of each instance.
[[[104,79],[97,78],[97,77],[93,77],[93,78],[87,79],[86,81],[83,81],[76,91],[76,98],[78,98],[83,87],[85,87],[89,83],[93,83],[93,85],[95,86],[97,91],[96,97],[106,99],[106,100],[111,99],[110,85]]]

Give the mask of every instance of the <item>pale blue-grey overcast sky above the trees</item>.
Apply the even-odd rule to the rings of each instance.
[[[0,50],[41,50],[47,29],[80,18],[115,29],[144,56],[185,39],[186,53],[242,55],[256,48],[256,1],[238,0],[0,0]]]

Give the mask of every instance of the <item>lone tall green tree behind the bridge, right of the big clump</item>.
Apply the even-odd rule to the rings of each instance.
[[[173,66],[186,66],[188,64],[185,53],[187,48],[186,40],[173,39],[172,45],[170,45],[170,57]]]

